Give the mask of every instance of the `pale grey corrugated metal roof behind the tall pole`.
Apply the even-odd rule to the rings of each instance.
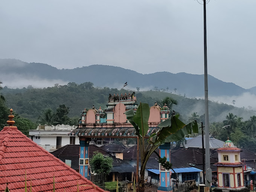
[[[204,135],[205,138],[205,135]],[[215,139],[212,136],[209,136],[210,140],[210,149],[218,149],[223,147],[224,143],[221,140]],[[205,139],[204,139],[204,146],[205,146]],[[184,145],[185,148],[202,148],[202,136],[199,135],[197,137],[194,137],[193,139],[187,140],[187,144]]]

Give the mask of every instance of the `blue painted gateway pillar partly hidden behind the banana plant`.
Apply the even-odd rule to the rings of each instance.
[[[163,145],[159,146],[160,149],[160,157],[166,157],[166,160],[170,162],[170,149],[171,149],[171,143],[165,143]],[[160,172],[160,183],[159,187],[157,189],[158,192],[166,192],[171,191],[172,192],[172,186],[170,188],[170,172],[171,170],[166,170],[162,167],[162,165],[159,163],[159,172]]]

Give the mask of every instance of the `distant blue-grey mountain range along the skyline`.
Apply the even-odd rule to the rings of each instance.
[[[34,87],[47,87],[47,85],[35,85],[37,81],[34,79],[54,83],[76,82],[78,84],[90,81],[94,83],[94,87],[116,87],[118,89],[127,81],[127,88],[131,90],[136,90],[136,87],[140,87],[140,90],[153,90],[154,87],[161,90],[161,88],[169,87],[168,92],[174,92],[174,88],[177,88],[177,94],[186,94],[189,97],[204,96],[204,75],[170,72],[143,75],[133,70],[105,65],[57,69],[47,64],[27,63],[17,59],[0,59],[0,69],[0,81],[9,81],[1,77],[12,75],[13,81],[30,79],[29,82]],[[234,96],[248,91],[234,83],[223,82],[211,75],[208,77],[208,83],[209,96]],[[256,87],[249,91],[256,93]]]

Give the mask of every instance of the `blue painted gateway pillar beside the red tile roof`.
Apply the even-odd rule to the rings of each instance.
[[[84,176],[89,176],[89,141],[79,140],[80,143],[80,157],[79,157],[79,173]]]

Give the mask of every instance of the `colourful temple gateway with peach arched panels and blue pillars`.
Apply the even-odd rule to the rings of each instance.
[[[102,140],[105,143],[114,140],[115,138],[137,138],[136,131],[130,122],[126,119],[124,114],[126,111],[133,109],[136,113],[139,103],[135,93],[132,94],[109,94],[108,103],[106,108],[99,107],[97,110],[93,108],[87,110],[84,109],[81,113],[81,119],[79,120],[78,128],[72,130],[69,135],[75,135],[79,137],[80,143],[80,158],[79,158],[79,172],[84,177],[89,175],[89,143],[93,140]],[[158,131],[157,125],[160,122],[169,118],[171,111],[168,106],[162,108],[155,103],[150,107],[150,115],[148,120],[149,129],[146,133],[146,138],[151,134]],[[170,143],[160,146],[161,155],[170,154]],[[167,156],[167,160],[170,160],[170,156]],[[160,170],[164,172],[161,176],[160,190],[166,191],[168,189],[168,182],[170,178],[170,171]],[[168,181],[168,182],[167,182]],[[167,183],[166,183],[167,182]]]

